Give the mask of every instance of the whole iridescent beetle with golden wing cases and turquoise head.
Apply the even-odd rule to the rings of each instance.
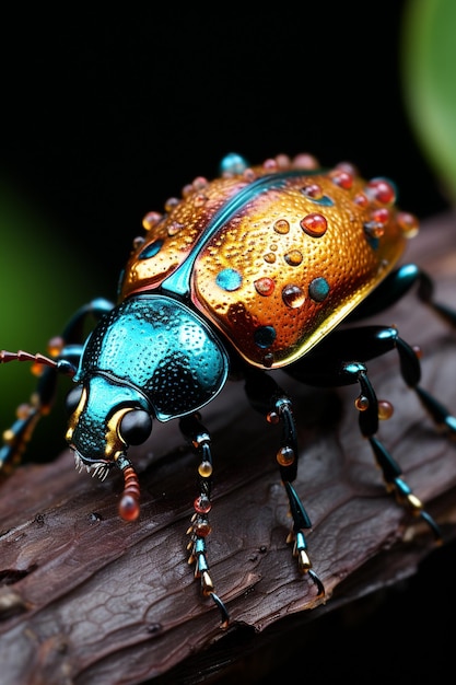
[[[387,490],[439,539],[437,524],[376,438],[378,417],[391,407],[377,400],[365,362],[396,349],[405,382],[435,422],[455,436],[456,419],[420,387],[418,353],[396,328],[339,327],[382,311],[413,283],[421,300],[456,326],[456,314],[433,302],[431,279],[412,264],[397,267],[418,221],[395,201],[389,181],[366,182],[347,163],[324,171],[311,155],[279,155],[250,167],[227,155],[220,177],[196,178],[163,214],[147,214],[145,237],[133,243],[116,305],[94,300],[82,307],[52,341],[50,357],[1,352],[2,362],[33,361],[44,371],[4,433],[0,467],[17,461],[48,411],[58,373],[72,375],[67,440],[77,467],[104,478],[117,466],[125,478],[119,513],[132,521],[140,491],[128,446],[148,439],[153,419],[178,418],[200,458],[190,560],[225,626],[229,614],[207,561],[212,454],[199,413],[230,378],[242,378],[253,407],[282,425],[277,461],[293,522],[288,542],[300,571],[323,595],[307,554],[311,520],[292,485],[299,455],[292,404],[270,373],[283,369],[309,385],[359,384],[361,433]],[[87,315],[97,325],[82,345]]]

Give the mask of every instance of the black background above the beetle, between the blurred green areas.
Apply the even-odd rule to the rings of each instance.
[[[143,214],[230,151],[351,160],[404,209],[442,209],[402,100],[405,4],[10,11],[1,166],[46,212],[71,288],[90,265],[113,297]]]

